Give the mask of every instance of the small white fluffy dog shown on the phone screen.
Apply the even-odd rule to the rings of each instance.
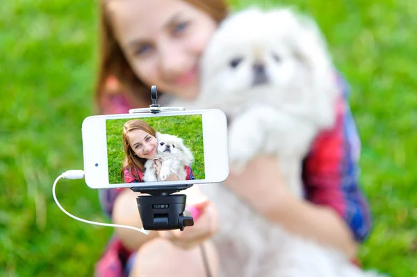
[[[158,141],[158,153],[154,160],[162,163],[159,175],[154,169],[154,160],[145,162],[144,182],[165,181],[168,176],[175,174],[179,180],[186,180],[187,172],[184,167],[193,164],[193,153],[183,144],[183,140],[175,135],[161,134],[156,132]]]

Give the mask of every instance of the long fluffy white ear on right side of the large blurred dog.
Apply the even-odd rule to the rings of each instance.
[[[282,9],[275,12],[274,16],[271,20],[275,26],[281,26],[280,33],[285,34],[281,40],[305,69],[304,76],[299,74],[303,81],[298,83],[303,84],[303,90],[308,88],[306,96],[311,100],[312,118],[316,119],[319,126],[331,126],[338,90],[324,35],[313,19],[299,12]]]

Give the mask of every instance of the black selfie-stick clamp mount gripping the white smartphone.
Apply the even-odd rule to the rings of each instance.
[[[183,107],[160,107],[156,103],[157,91],[156,85],[151,87],[152,105],[149,108],[131,109],[129,113],[159,113],[185,110]],[[140,219],[145,230],[184,230],[186,226],[193,226],[193,217],[183,215],[186,208],[185,194],[173,194],[186,190],[193,185],[165,185],[165,186],[146,186],[131,187],[133,192],[143,194],[136,197]],[[187,212],[186,212],[187,213]]]

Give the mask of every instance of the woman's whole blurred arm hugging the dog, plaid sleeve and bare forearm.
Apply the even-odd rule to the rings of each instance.
[[[357,186],[356,129],[348,106],[342,107],[336,126],[319,135],[304,162],[308,200],[288,192],[272,157],[254,159],[250,170],[231,174],[226,183],[270,221],[354,258],[370,230],[370,217]]]

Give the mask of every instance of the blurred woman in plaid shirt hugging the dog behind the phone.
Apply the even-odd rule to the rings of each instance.
[[[227,5],[221,0],[104,1],[97,86],[101,112],[126,112],[129,108],[149,106],[151,85],[157,85],[165,96],[193,99],[199,92],[199,56],[227,12]],[[109,76],[122,83],[123,92],[106,93]],[[343,80],[339,81],[341,90],[345,90]],[[225,185],[270,221],[336,247],[354,259],[358,244],[370,230],[370,217],[357,185],[357,131],[347,101],[341,101],[336,126],[318,135],[304,161],[306,199],[291,196],[276,170],[275,160],[268,156],[252,160],[248,165],[251,171],[240,176],[231,174]],[[254,176],[253,170],[259,174]],[[138,226],[140,219],[131,192],[125,190],[113,197],[111,191],[104,194],[107,195],[102,199],[110,200],[107,208],[113,211],[115,223]],[[210,226],[215,224],[216,212],[210,203],[205,207],[196,226],[186,230],[188,233],[170,233],[161,238],[156,233],[145,237],[130,230],[117,230],[123,245],[118,253],[123,249],[138,253],[129,274],[207,276],[206,272],[211,271],[215,275],[215,251],[209,247],[204,259],[196,247],[213,235]],[[204,269],[202,260],[208,261],[208,269]],[[185,261],[187,271],[179,273],[177,270],[183,269]]]

